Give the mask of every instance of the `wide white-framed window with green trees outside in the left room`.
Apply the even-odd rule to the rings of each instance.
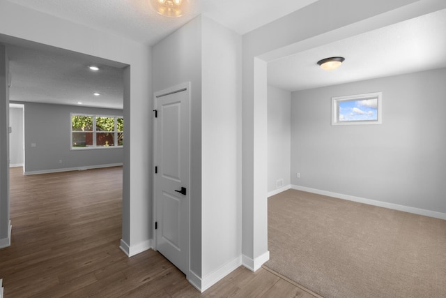
[[[70,114],[70,119],[71,149],[108,149],[123,146],[123,117]]]

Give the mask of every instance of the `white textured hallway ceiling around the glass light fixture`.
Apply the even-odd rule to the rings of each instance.
[[[183,0],[183,17],[158,15],[151,0],[8,0],[72,22],[155,45],[197,15],[206,15],[240,34],[277,20],[317,0]]]

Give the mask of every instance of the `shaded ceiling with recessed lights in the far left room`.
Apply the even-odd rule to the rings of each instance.
[[[52,47],[8,45],[8,55],[10,100],[123,108],[123,70],[108,61]],[[100,70],[89,70],[93,64]]]

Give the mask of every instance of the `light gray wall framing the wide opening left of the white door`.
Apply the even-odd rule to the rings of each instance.
[[[151,47],[6,0],[0,1],[2,38],[9,43],[9,40],[41,43],[130,66],[130,84],[124,86],[124,94],[128,96],[124,96],[123,148],[123,167],[128,174],[123,177],[123,211],[128,212],[123,214],[123,220],[129,222],[123,223],[122,240],[130,248],[150,248],[153,126],[147,115],[153,110],[152,101],[148,100],[152,96]]]

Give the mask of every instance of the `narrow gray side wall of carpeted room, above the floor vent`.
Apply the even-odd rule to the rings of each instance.
[[[268,193],[289,187],[290,172],[291,92],[268,85]]]

